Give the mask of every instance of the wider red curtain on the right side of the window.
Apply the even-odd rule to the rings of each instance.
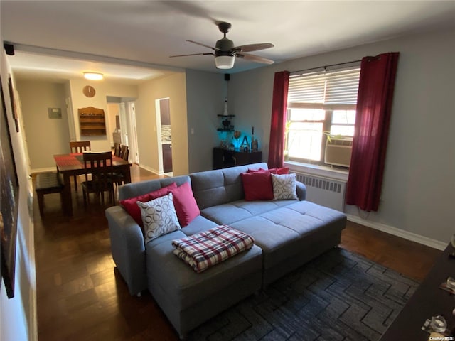
[[[398,55],[365,57],[360,65],[346,203],[367,212],[379,207]]]

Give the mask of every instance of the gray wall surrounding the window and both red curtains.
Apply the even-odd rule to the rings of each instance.
[[[379,212],[350,215],[448,242],[455,203],[455,31],[384,40],[232,75],[229,85],[237,124],[255,126],[267,160],[274,72],[400,52]],[[250,128],[249,128],[250,129]]]

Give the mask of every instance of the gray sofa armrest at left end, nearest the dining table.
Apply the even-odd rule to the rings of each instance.
[[[144,234],[141,227],[120,206],[105,211],[109,225],[112,258],[127,282],[131,295],[147,288]]]

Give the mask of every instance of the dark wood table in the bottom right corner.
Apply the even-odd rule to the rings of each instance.
[[[452,315],[452,310],[455,308],[455,296],[440,289],[439,286],[449,276],[455,278],[455,259],[449,258],[449,253],[454,251],[454,247],[449,243],[410,301],[406,303],[405,308],[382,335],[380,341],[427,341],[429,333],[420,328],[425,320],[437,315],[444,316],[447,321],[447,329],[453,330],[455,317]]]

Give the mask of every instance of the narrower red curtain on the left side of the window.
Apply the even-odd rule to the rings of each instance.
[[[284,129],[286,128],[287,90],[289,72],[275,72],[270,122],[269,168],[282,167],[284,157]]]

